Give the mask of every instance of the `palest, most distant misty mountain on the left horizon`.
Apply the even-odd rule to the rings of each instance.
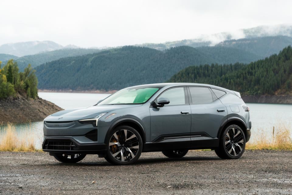
[[[16,55],[33,55],[45,51],[54,51],[62,48],[78,48],[75,45],[62,46],[54,41],[26,41],[18,43],[7,43],[0,46],[1,54]]]

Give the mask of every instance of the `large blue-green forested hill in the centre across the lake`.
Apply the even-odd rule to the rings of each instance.
[[[216,56],[216,57],[214,57]],[[259,59],[230,48],[188,46],[158,51],[125,46],[95,54],[63,58],[36,68],[40,89],[117,90],[159,83],[190,65],[250,62]]]

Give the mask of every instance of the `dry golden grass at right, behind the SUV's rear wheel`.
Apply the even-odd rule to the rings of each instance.
[[[280,124],[273,128],[272,135],[267,134],[263,129],[252,135],[252,142],[246,144],[247,150],[287,150],[292,151],[292,132],[285,125]]]

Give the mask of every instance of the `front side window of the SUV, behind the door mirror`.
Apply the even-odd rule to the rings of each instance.
[[[170,103],[168,105],[186,104],[185,90],[183,87],[176,87],[176,88],[169,89],[163,92],[163,94],[161,94],[159,97],[169,99]]]

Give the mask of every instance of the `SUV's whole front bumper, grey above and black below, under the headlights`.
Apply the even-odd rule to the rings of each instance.
[[[44,121],[42,149],[52,154],[100,154],[106,151],[104,141],[108,129],[108,126],[94,127],[78,121]]]

